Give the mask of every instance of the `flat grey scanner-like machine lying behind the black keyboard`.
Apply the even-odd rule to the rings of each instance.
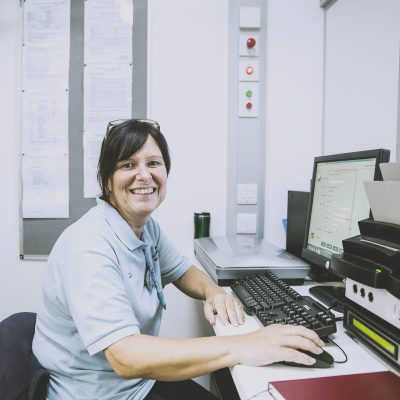
[[[233,235],[194,239],[196,257],[221,286],[255,272],[270,270],[290,284],[302,284],[309,264],[254,236]]]

